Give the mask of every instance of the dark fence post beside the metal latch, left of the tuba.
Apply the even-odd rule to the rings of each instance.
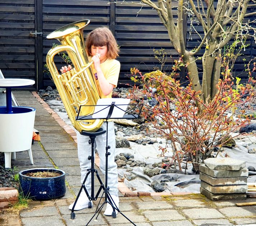
[[[43,2],[35,0],[35,30],[43,32]],[[43,86],[43,35],[35,37],[35,74],[36,89],[40,90]]]

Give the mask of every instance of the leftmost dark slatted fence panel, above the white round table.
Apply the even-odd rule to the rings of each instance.
[[[0,69],[5,78],[35,79],[34,0],[0,0]]]

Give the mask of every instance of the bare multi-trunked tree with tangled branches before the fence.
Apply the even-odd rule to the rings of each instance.
[[[247,16],[256,14],[248,13],[249,7],[255,7],[255,0],[177,0],[178,19],[174,18],[173,0],[141,0],[141,3],[149,5],[157,10],[159,18],[166,27],[173,47],[182,56],[187,66],[190,81],[195,91],[201,91],[201,98],[205,101],[212,99],[216,93],[216,84],[220,78],[221,62],[219,54],[222,48],[232,38],[244,40],[249,35],[256,40],[256,28],[254,21],[246,21]],[[189,4],[188,4],[189,3]],[[196,3],[196,4],[195,4]],[[207,10],[204,10],[204,6]],[[176,8],[177,10],[177,8]],[[183,13],[190,13],[203,27],[204,35],[201,42],[193,50],[187,50],[183,33]],[[186,28],[185,28],[186,29]],[[251,33],[250,33],[250,30]],[[205,48],[203,54],[203,81],[200,85],[196,63],[196,54]]]

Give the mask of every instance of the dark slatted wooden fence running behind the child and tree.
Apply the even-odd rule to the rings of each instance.
[[[124,4],[122,0],[16,2],[18,3],[13,3],[13,0],[0,0],[0,68],[6,78],[34,79],[36,85],[33,88],[36,90],[53,85],[44,66],[45,57],[52,45],[59,44],[59,41],[48,40],[46,36],[78,20],[90,20],[90,24],[84,29],[85,34],[101,26],[110,28],[115,34],[120,45],[120,57],[118,57],[121,62],[120,83],[125,84],[130,81],[128,76],[130,68],[137,67],[142,72],[160,68],[159,60],[163,59],[163,55],[157,54],[157,51],[161,49],[164,49],[164,53],[168,55],[163,71],[171,71],[173,60],[178,58],[157,12],[148,6],[141,8],[141,5],[136,4],[139,1],[133,1],[132,4]],[[177,2],[174,1],[173,4]],[[255,10],[255,6],[252,10]],[[174,16],[177,16],[177,11],[174,11]],[[198,45],[199,36],[191,33],[189,17],[184,15],[184,19],[184,25],[187,25],[186,46],[194,48]],[[203,30],[197,27],[197,32],[200,34]],[[252,42],[243,52],[246,56],[239,57],[236,62],[235,73],[242,78],[246,77],[246,74],[241,74],[244,68],[242,59],[256,57],[255,49],[256,45]],[[55,63],[58,68],[65,64],[58,57]]]

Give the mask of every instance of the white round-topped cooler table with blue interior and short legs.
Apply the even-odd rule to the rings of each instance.
[[[27,150],[31,164],[34,164],[31,150],[36,109],[12,106],[11,88],[34,85],[35,81],[21,78],[2,78],[0,87],[6,89],[6,107],[0,107],[0,152],[4,152],[5,168],[11,168],[11,159],[16,152]]]

